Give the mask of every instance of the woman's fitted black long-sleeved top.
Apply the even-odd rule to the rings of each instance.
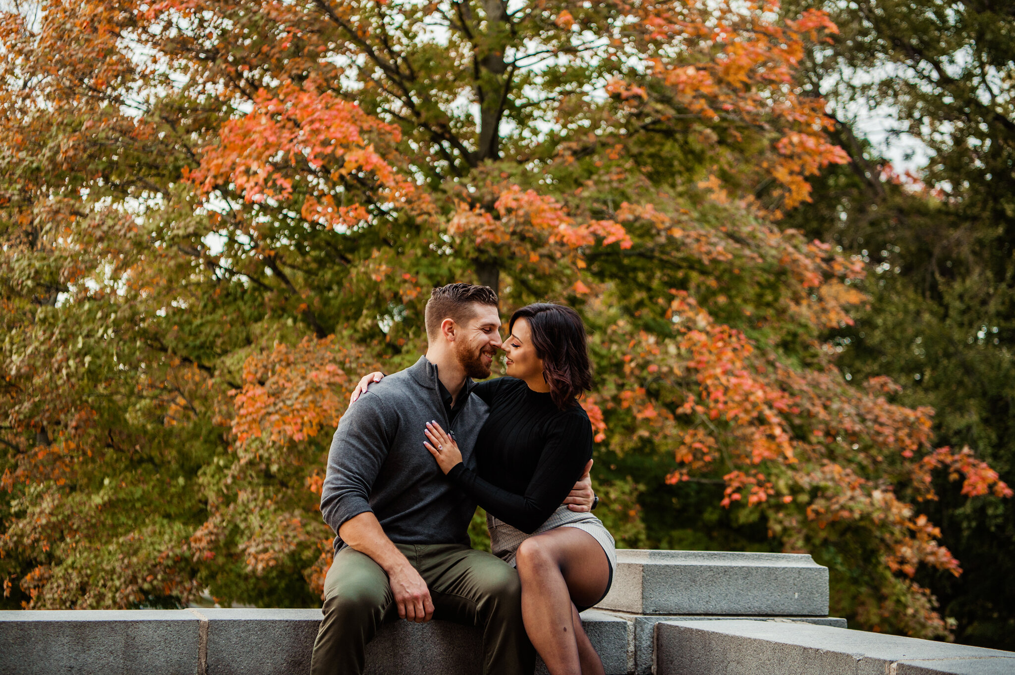
[[[490,406],[476,439],[476,471],[448,473],[495,518],[534,532],[582,476],[592,458],[592,424],[577,401],[566,410],[524,380],[499,377],[472,391]]]

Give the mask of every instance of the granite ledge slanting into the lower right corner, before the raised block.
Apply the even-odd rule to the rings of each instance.
[[[662,621],[657,675],[899,675],[899,667],[963,663],[969,675],[1015,672],[1015,653],[784,621]],[[978,663],[973,663],[978,662]],[[997,670],[1001,668],[1002,670]]]

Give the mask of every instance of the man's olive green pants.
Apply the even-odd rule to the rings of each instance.
[[[459,544],[396,546],[426,582],[433,618],[482,628],[484,675],[532,675],[536,652],[522,623],[522,587],[513,567]],[[388,575],[346,546],[335,555],[324,592],[311,674],[360,675],[366,643],[385,621],[399,620]]]

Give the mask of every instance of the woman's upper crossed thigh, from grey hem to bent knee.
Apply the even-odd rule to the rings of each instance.
[[[599,602],[610,582],[610,562],[603,547],[594,536],[577,527],[558,527],[529,537],[519,546],[518,558],[519,566],[525,566],[527,560],[554,562],[571,600],[579,606]],[[524,577],[522,583],[524,591]]]

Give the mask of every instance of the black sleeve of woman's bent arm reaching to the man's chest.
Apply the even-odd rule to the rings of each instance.
[[[525,494],[497,488],[464,464],[452,467],[448,477],[495,518],[531,534],[560,506],[592,457],[592,425],[580,410],[549,426]]]

